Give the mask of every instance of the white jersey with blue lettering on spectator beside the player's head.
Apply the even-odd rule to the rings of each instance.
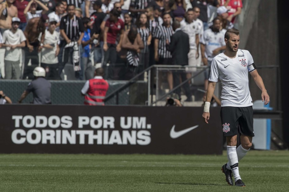
[[[201,38],[201,43],[205,45],[205,56],[209,61],[212,61],[216,56],[213,55],[215,49],[226,45],[224,36],[224,31],[213,32],[210,28],[205,30],[204,35]]]

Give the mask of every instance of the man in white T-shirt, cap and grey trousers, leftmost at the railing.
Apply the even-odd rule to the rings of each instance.
[[[3,33],[3,47],[5,52],[5,79],[19,79],[21,76],[19,58],[21,47],[25,47],[25,35],[21,29],[18,29],[20,19],[12,18],[12,28]]]

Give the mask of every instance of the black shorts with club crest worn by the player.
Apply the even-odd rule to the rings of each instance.
[[[254,137],[253,107],[221,107],[223,135],[241,135]]]

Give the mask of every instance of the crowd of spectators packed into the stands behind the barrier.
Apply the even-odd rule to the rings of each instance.
[[[213,46],[218,51],[209,50],[210,36],[233,28],[242,9],[241,0],[1,1],[0,68],[5,79],[32,79],[33,69],[42,66],[47,79],[59,80],[71,66],[73,77],[85,80],[93,78],[98,64],[105,79],[126,80],[153,64],[171,65],[167,46],[173,21],[189,35],[189,66],[208,65],[223,46],[220,42]],[[173,74],[163,75],[172,89]]]

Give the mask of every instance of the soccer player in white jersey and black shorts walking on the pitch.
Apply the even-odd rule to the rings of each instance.
[[[222,171],[225,173],[229,185],[233,185],[233,175],[235,186],[244,187],[245,184],[239,175],[238,162],[252,146],[252,137],[254,137],[253,101],[248,86],[248,73],[261,89],[261,98],[265,105],[269,103],[270,99],[251,54],[247,50],[238,49],[239,42],[239,31],[229,29],[225,33],[225,52],[213,58],[203,121],[208,123],[210,101],[219,78],[222,83],[221,122],[223,135],[227,139],[228,157],[228,163],[222,166]],[[237,134],[241,134],[241,145],[236,149]]]

